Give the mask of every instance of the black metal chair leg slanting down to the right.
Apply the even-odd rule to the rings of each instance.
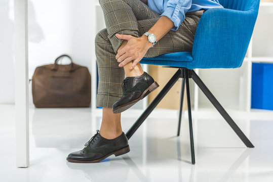
[[[214,107],[219,111],[219,113],[223,116],[229,126],[236,132],[239,138],[244,142],[247,147],[253,148],[254,146],[248,140],[243,131],[238,127],[238,125],[232,120],[232,118],[227,114],[221,104],[216,100],[216,98],[212,95],[208,87],[204,84],[204,82],[200,79],[200,77],[191,70],[192,79],[197,83],[197,85],[201,88],[203,93],[207,96],[210,102],[214,105]]]

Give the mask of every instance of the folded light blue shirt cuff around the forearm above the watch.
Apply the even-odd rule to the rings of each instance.
[[[166,16],[172,22],[174,23],[174,27],[171,30],[177,30],[181,23],[185,19],[185,15],[180,12],[180,7],[176,6],[176,8],[173,7],[167,7],[166,10],[163,12],[163,14],[160,15],[160,17]]]

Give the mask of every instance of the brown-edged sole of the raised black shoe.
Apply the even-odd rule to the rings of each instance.
[[[129,103],[126,103],[124,105],[121,105],[119,107],[116,107],[115,109],[113,109],[113,113],[116,114],[116,113],[121,113],[123,111],[126,111],[127,109],[132,107],[141,99],[145,98],[148,94],[150,94],[153,90],[155,90],[158,87],[159,87],[159,84],[156,81],[154,81],[147,89],[145,89],[145,91],[142,93],[142,95],[138,99],[131,101]]]

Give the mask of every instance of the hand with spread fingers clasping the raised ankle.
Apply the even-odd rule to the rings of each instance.
[[[123,67],[129,62],[133,61],[130,69],[134,69],[137,63],[144,57],[148,49],[152,46],[152,43],[148,41],[147,36],[134,37],[132,35],[120,35],[115,34],[120,39],[127,40],[127,44],[124,48],[118,51],[115,59],[118,60],[119,67]]]

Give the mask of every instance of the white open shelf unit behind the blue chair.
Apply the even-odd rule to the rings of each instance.
[[[96,16],[95,32],[105,28],[103,13],[98,3],[94,4]],[[273,32],[273,25],[270,24],[270,19],[273,18],[273,3],[260,3],[259,14],[254,28],[253,36],[251,38],[249,48],[244,59],[243,65],[236,69],[195,69],[197,74],[205,82],[216,99],[222,104],[224,108],[236,109],[242,111],[250,111],[251,109],[251,72],[252,63],[263,62],[273,63],[273,43],[271,43],[270,32]],[[264,29],[266,33],[264,34]],[[96,34],[96,33],[95,33]],[[95,36],[94,34],[94,36]],[[268,36],[269,35],[269,36]],[[267,42],[264,44],[264,42]],[[272,41],[273,42],[273,41]],[[268,49],[264,49],[264,48]],[[266,51],[267,50],[267,51]],[[270,51],[271,50],[271,51]],[[96,72],[96,58],[94,56],[92,63],[92,72]],[[145,70],[147,66],[143,65]],[[217,75],[217,76],[215,76]],[[92,77],[92,108],[95,107],[96,95],[96,76]],[[191,97],[194,100],[192,106],[194,111],[198,108],[213,107],[206,96],[191,81]],[[142,108],[146,108],[146,101],[142,102]]]

